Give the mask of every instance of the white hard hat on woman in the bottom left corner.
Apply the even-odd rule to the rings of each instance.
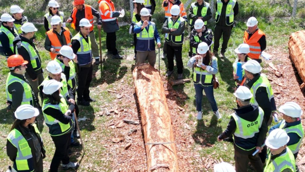
[[[15,111],[15,117],[20,120],[30,119],[38,115],[39,115],[38,109],[34,108],[32,105],[29,104],[22,104]]]

